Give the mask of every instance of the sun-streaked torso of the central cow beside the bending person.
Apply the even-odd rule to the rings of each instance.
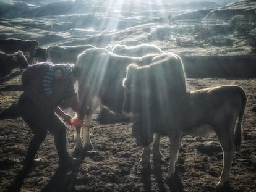
[[[154,56],[118,56],[106,49],[88,49],[79,55],[79,92],[85,100],[98,96],[104,105],[115,112],[121,112],[124,99],[122,80],[131,63],[148,65]],[[81,93],[81,91],[83,93]]]

